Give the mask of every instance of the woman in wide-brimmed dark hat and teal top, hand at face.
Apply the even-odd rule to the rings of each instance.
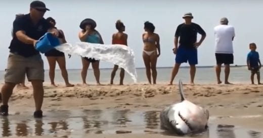
[[[95,30],[96,26],[97,25],[94,20],[84,19],[80,23],[80,26],[79,26],[82,29],[78,33],[78,37],[80,41],[104,44],[100,33],[97,30]],[[95,76],[97,85],[101,85],[100,84],[100,69],[99,69],[100,60],[95,60],[94,58],[89,58],[89,57],[81,57],[81,60],[82,60],[81,78],[82,78],[83,85],[87,85],[86,76],[87,76],[87,69],[89,68],[90,63],[92,63],[93,72],[94,72],[94,76]]]

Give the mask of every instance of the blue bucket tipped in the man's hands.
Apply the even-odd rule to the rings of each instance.
[[[46,53],[58,45],[60,45],[59,39],[53,36],[51,33],[46,33],[41,38],[39,38],[38,42],[36,42],[35,49],[41,53]]]

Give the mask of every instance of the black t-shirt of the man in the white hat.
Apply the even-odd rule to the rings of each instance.
[[[184,48],[194,48],[194,43],[197,40],[197,33],[205,35],[205,31],[195,23],[180,24],[176,30],[176,37],[180,37],[179,45]]]

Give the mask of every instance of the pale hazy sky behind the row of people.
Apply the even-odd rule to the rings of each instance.
[[[11,41],[12,23],[16,14],[29,13],[28,0],[0,0],[0,70],[5,70]],[[172,53],[173,38],[176,28],[183,23],[184,13],[191,12],[193,22],[199,24],[207,36],[198,48],[198,66],[215,65],[214,34],[213,28],[219,24],[222,17],[229,19],[229,25],[235,27],[236,37],[234,45],[234,64],[246,64],[246,56],[249,52],[248,44],[257,44],[260,59],[263,52],[263,39],[261,25],[261,8],[263,1],[208,1],[208,0],[46,0],[48,11],[45,18],[53,17],[57,22],[57,28],[65,33],[66,40],[74,44],[79,42],[79,24],[85,18],[92,18],[97,22],[97,30],[101,33],[104,43],[111,43],[111,36],[117,30],[115,22],[121,20],[126,26],[128,34],[128,46],[135,51],[136,67],[144,67],[142,58],[144,22],[150,21],[155,25],[155,33],[160,36],[161,55],[157,61],[157,67],[169,67],[174,64],[175,55]],[[198,40],[200,35],[198,36]],[[45,69],[49,68],[47,58],[42,54]],[[70,59],[66,56],[68,69],[82,67],[80,56]],[[183,63],[188,66],[188,63]],[[101,68],[112,68],[113,64],[101,61]],[[57,65],[58,68],[58,65]]]

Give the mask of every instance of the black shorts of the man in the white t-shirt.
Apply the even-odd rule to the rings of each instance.
[[[227,53],[215,53],[216,64],[233,64],[234,55]]]

